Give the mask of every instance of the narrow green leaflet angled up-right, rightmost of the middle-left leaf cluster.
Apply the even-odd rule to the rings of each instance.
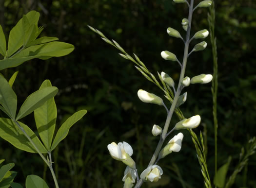
[[[56,146],[59,144],[61,140],[63,140],[69,132],[69,129],[74,125],[78,120],[80,120],[85,114],[87,113],[87,110],[80,110],[73,114],[71,117],[69,117],[59,128],[56,137],[54,138],[51,151],[53,151]]]

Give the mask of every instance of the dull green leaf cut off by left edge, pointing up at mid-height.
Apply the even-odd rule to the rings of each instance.
[[[17,109],[17,96],[7,80],[0,76],[0,104],[5,110],[5,113],[15,120]]]

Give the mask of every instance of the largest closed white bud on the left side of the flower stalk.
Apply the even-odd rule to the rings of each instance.
[[[140,99],[140,101],[144,103],[153,103],[153,104],[163,105],[163,100],[160,97],[158,97],[153,93],[144,91],[142,89],[138,90],[138,98]]]

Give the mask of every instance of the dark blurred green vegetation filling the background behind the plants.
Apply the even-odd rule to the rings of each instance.
[[[198,2],[195,0],[196,4]],[[218,167],[231,155],[229,177],[239,160],[241,147],[246,149],[249,138],[256,135],[256,1],[218,0],[215,7],[219,72]],[[43,80],[50,79],[59,88],[55,98],[59,122],[81,108],[88,110],[87,116],[72,127],[54,153],[60,187],[121,188],[125,165],[111,158],[107,144],[112,141],[131,144],[141,173],[158,143],[158,138],[151,136],[152,126],[163,126],[166,112],[160,106],[141,103],[137,91],[141,88],[164,97],[131,62],[122,59],[116,49],[103,42],[87,25],[115,39],[128,53],[135,52],[154,74],[164,71],[177,83],[178,64],[164,61],[160,52],[172,51],[182,58],[182,41],[169,37],[166,29],[172,27],[185,34],[181,20],[187,17],[187,6],[174,4],[172,0],[0,0],[0,24],[5,36],[20,17],[31,10],[40,12],[39,25],[44,27],[40,36],[57,36],[75,45],[75,51],[46,61],[34,59],[1,73],[10,78],[19,70],[14,89],[20,105]],[[192,34],[208,29],[207,11],[205,8],[194,12]],[[198,41],[193,40],[191,47]],[[186,76],[213,72],[209,37],[206,42],[206,50],[189,57]],[[202,118],[203,126],[195,132],[207,131],[208,168],[213,178],[211,85],[191,85],[186,91],[187,102],[181,110],[185,117],[199,114]],[[30,115],[23,122],[36,130],[33,118]],[[174,116],[171,123],[176,122]],[[164,171],[159,184],[166,188],[201,188],[203,179],[195,146],[189,133],[183,133],[181,151],[159,161]],[[16,164],[16,182],[24,183],[28,174],[36,174],[54,187],[49,171],[36,154],[17,150],[2,139],[0,154],[7,163]],[[256,188],[255,174],[256,155],[253,155],[237,175],[234,188]]]

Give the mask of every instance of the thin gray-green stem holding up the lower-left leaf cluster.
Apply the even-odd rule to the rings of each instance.
[[[43,159],[43,161],[46,163],[46,165],[49,167],[51,173],[52,173],[52,176],[53,176],[53,179],[54,179],[54,183],[55,183],[55,186],[56,188],[59,188],[59,184],[58,184],[58,181],[56,179],[56,175],[54,173],[54,170],[53,170],[53,167],[52,167],[52,157],[51,157],[51,153],[49,152],[49,160],[50,162],[47,161],[47,159],[43,156],[43,154],[39,151],[37,145],[33,142],[33,140],[28,136],[28,134],[26,133],[26,131],[23,129],[23,127],[20,126],[20,123],[18,121],[15,121],[15,124],[20,128],[20,130],[23,132],[23,134],[25,135],[25,137],[27,137],[27,139],[30,141],[30,143],[33,145],[33,147],[35,148],[35,150],[37,151],[37,153],[40,155],[40,157]]]

